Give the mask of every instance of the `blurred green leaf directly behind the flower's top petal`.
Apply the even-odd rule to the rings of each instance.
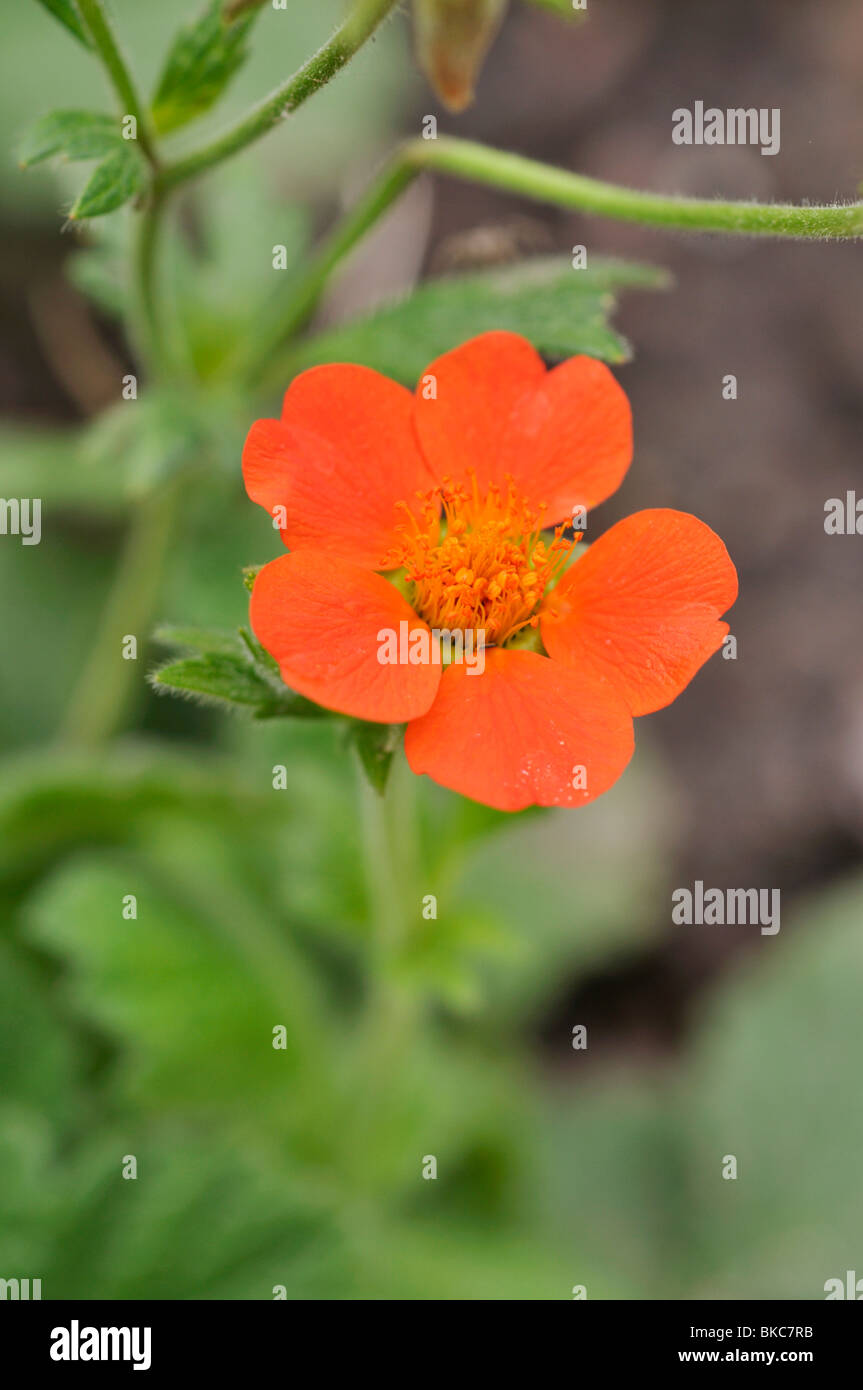
[[[666,284],[666,274],[649,265],[598,260],[573,270],[560,257],[542,257],[429,281],[400,303],[307,339],[296,353],[303,367],[359,361],[413,384],[439,353],[502,328],[523,334],[549,357],[588,353],[627,361],[630,346],[609,325],[616,292]]]

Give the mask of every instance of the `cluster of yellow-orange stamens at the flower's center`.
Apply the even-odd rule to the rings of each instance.
[[[528,507],[511,478],[506,492],[492,485],[485,495],[475,474],[467,486],[445,480],[421,500],[418,517],[399,503],[402,541],[384,563],[404,569],[418,616],[429,627],[485,634],[485,646],[536,627],[542,596],[581,537],[566,539],[559,525],[543,541],[543,506]]]

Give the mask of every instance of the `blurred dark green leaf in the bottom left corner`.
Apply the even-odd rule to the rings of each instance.
[[[53,1298],[325,1298],[350,1268],[334,1215],[289,1159],[206,1125],[110,1119],[69,1145],[0,1111],[0,1265]],[[139,1182],[118,1179],[133,1152]],[[361,1294],[361,1290],[360,1290]]]

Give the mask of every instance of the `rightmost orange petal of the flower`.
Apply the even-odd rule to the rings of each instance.
[[[634,714],[670,705],[728,632],[737,570],[698,517],[655,509],[613,525],[546,600],[542,641],[556,662],[620,684]]]

